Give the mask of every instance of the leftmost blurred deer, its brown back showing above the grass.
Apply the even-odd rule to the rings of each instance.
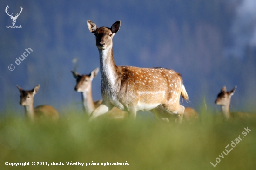
[[[20,105],[25,108],[25,116],[34,121],[35,118],[50,118],[52,120],[59,119],[59,113],[50,105],[39,105],[34,108],[34,95],[38,92],[40,85],[32,90],[23,90],[17,85],[20,91]]]

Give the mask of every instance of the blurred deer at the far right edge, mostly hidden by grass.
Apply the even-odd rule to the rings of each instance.
[[[215,101],[216,105],[221,105],[221,112],[225,116],[226,119],[230,118],[256,118],[255,114],[245,113],[245,112],[230,112],[229,105],[231,101],[231,96],[233,96],[236,90],[236,86],[229,92],[227,92],[226,86],[222,87],[221,92],[218,94],[217,99]]]

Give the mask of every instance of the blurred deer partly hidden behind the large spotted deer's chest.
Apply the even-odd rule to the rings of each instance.
[[[97,76],[99,68],[94,69],[89,75],[80,75],[77,72],[71,71],[74,78],[76,79],[76,85],[74,90],[81,92],[83,101],[83,110],[90,116],[90,114],[95,110],[95,108],[101,105],[102,100],[93,101],[92,97],[92,81]],[[127,113],[121,111],[116,107],[113,107],[111,111],[106,113],[106,116],[110,119],[123,119]]]

